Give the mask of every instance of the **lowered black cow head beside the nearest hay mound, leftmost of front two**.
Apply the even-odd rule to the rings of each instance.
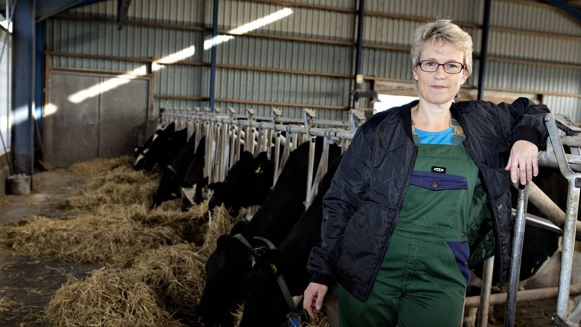
[[[252,251],[230,235],[218,237],[216,250],[206,261],[206,285],[196,314],[205,325],[231,325],[231,311],[245,297]]]

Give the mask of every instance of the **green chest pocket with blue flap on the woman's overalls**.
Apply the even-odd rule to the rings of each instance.
[[[414,170],[400,221],[429,229],[461,229],[461,208],[467,190],[467,177]]]

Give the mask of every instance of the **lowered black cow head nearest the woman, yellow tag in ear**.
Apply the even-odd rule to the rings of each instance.
[[[290,311],[278,286],[284,261],[278,250],[254,254],[254,265],[246,279],[246,302],[240,327],[280,326]]]

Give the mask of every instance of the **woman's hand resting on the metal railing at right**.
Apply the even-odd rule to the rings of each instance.
[[[512,183],[517,183],[517,180],[520,178],[521,184],[524,185],[528,180],[533,179],[533,176],[539,175],[538,155],[539,149],[529,141],[520,140],[512,145],[508,164],[504,168],[504,170],[510,170]],[[519,168],[520,174],[517,168]]]

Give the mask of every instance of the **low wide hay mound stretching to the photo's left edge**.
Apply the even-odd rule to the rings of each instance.
[[[0,228],[0,244],[18,253],[114,267],[127,266],[143,251],[180,241],[169,227],[149,228],[93,214],[63,220],[33,216]]]

